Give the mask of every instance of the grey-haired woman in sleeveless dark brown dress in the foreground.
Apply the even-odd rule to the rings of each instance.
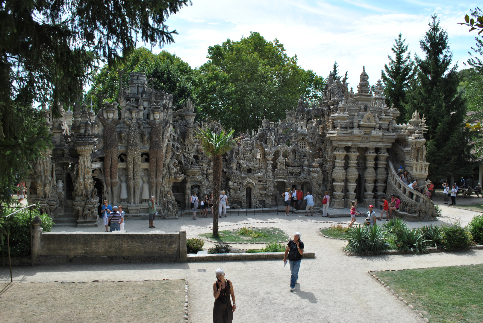
[[[225,279],[225,271],[218,268],[215,271],[216,282],[213,283],[213,323],[231,323],[233,321],[233,312],[237,304],[235,301],[235,292],[231,281]],[[233,305],[230,301],[233,300]]]

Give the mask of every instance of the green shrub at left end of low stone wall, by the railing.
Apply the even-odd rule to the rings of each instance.
[[[15,209],[4,209],[6,215],[14,212]],[[41,227],[43,232],[50,232],[54,221],[47,214],[39,214],[39,210],[32,210],[32,220],[39,215],[42,219]],[[10,256],[27,257],[30,256],[30,210],[26,209],[15,213],[14,218],[18,224],[10,225]],[[5,249],[6,249],[5,242]],[[0,246],[1,250],[1,246]]]

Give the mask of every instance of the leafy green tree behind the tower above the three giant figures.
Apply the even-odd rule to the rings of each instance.
[[[196,73],[181,58],[169,52],[162,51],[153,54],[150,50],[140,47],[130,54],[126,62],[120,64],[117,69],[104,66],[94,76],[92,87],[86,98],[92,98],[92,104],[97,113],[100,108],[99,96],[93,93],[100,93],[108,96],[109,102],[117,100],[119,95],[119,72],[122,75],[122,86],[129,86],[129,73],[144,72],[149,81],[149,86],[154,84],[156,91],[164,91],[173,94],[173,105],[181,108],[181,105],[193,95],[193,84]],[[154,82],[154,83],[152,83]]]

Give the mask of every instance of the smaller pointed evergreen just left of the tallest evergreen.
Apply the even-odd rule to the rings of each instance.
[[[381,78],[384,82],[384,95],[386,96],[386,104],[388,107],[394,104],[398,108],[401,115],[396,120],[397,122],[405,121],[404,105],[406,102],[406,92],[410,89],[416,70],[414,62],[411,59],[411,52],[405,53],[408,50],[408,45],[405,44],[406,39],[402,39],[401,33],[395,44],[391,47],[394,53],[394,59],[389,58],[389,66],[384,64],[384,71],[381,71]]]

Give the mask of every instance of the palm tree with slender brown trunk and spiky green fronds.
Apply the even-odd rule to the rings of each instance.
[[[215,134],[210,129],[204,131],[199,129],[198,140],[201,148],[208,156],[213,156],[213,236],[218,236],[218,206],[220,203],[220,186],[221,186],[221,173],[222,173],[222,162],[221,155],[230,150],[236,143],[237,139],[231,138],[233,132],[230,131],[228,134],[225,130],[222,130],[220,134]]]

